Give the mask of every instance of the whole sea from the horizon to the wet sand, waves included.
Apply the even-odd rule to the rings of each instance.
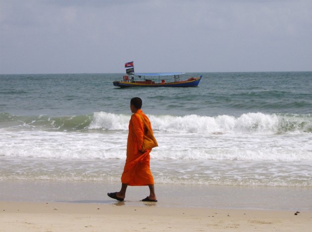
[[[312,72],[189,73],[194,88],[121,89],[123,74],[0,75],[0,180],[120,183],[132,97],[159,147],[156,184],[312,187]]]

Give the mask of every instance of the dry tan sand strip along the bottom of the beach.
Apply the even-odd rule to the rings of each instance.
[[[310,232],[312,212],[126,206],[95,203],[0,202],[0,232]]]

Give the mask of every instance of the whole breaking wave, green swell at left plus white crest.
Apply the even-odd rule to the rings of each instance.
[[[155,131],[176,133],[312,132],[312,115],[248,113],[239,117],[148,115]],[[40,130],[128,130],[130,115],[95,112],[80,116],[13,116],[0,114],[0,127]]]

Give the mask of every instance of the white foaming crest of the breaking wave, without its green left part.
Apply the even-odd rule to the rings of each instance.
[[[312,117],[248,113],[234,116],[155,116],[149,115],[156,131],[177,133],[283,133],[311,132]],[[129,115],[94,113],[89,129],[128,130]]]

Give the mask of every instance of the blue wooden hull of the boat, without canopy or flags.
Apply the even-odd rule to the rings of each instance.
[[[136,83],[127,81],[114,81],[114,86],[125,88],[125,87],[197,87],[201,81],[201,77],[194,78],[192,80],[182,80],[176,82],[165,82],[165,83]]]

